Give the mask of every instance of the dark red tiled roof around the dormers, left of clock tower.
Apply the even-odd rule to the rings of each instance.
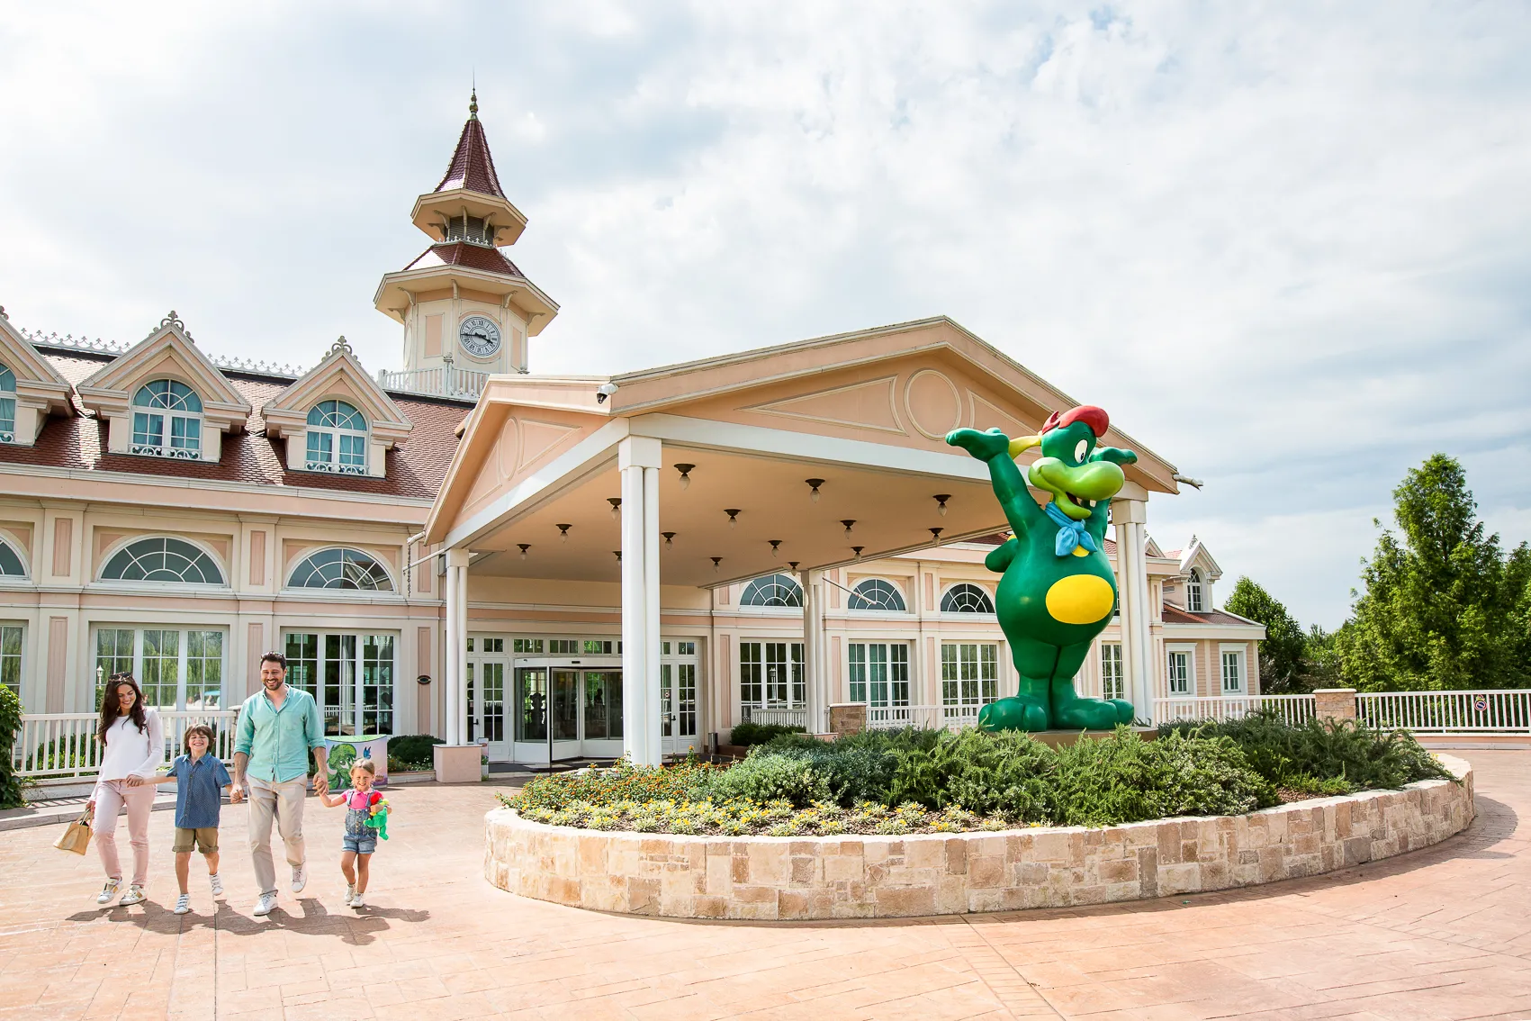
[[[90,357],[43,351],[44,358],[70,383],[80,383],[103,364],[110,355]],[[387,452],[386,476],[381,479],[355,475],[323,475],[318,471],[288,471],[283,441],[266,436],[266,424],[260,407],[289,386],[288,380],[227,372],[225,377],[250,401],[254,412],[243,433],[224,436],[222,458],[210,461],[171,461],[168,458],[141,458],[124,453],[107,453],[106,421],[70,415],[49,418],[43,433],[32,447],[0,444],[0,464],[35,464],[83,471],[124,471],[132,475],[159,475],[187,479],[217,479],[227,482],[253,482],[256,485],[302,487],[308,490],[337,490],[346,493],[375,493],[409,499],[435,499],[447,465],[456,452],[455,430],[473,410],[461,401],[433,401],[392,395],[393,403],[413,424],[409,439]],[[75,403],[80,410],[78,400]]]

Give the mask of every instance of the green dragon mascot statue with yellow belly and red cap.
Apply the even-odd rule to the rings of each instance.
[[[1003,572],[995,609],[1010,641],[1020,690],[978,713],[984,730],[1107,730],[1133,721],[1133,706],[1121,698],[1079,698],[1073,677],[1090,643],[1116,609],[1116,577],[1105,559],[1110,501],[1125,476],[1119,465],[1138,455],[1099,447],[1110,418],[1093,406],[1053,412],[1040,436],[1010,439],[998,429],[958,429],[946,442],[989,465],[1014,537],[984,559]],[[1036,505],[1015,458],[1032,447],[1041,456],[1027,470],[1052,501]]]

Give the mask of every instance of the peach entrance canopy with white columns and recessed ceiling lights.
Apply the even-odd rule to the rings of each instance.
[[[623,750],[648,764],[663,755],[660,582],[796,571],[821,729],[819,572],[1004,531],[987,467],[946,433],[1032,435],[1075,404],[948,318],[619,377],[493,377],[426,525],[447,560],[449,744],[467,733],[470,569],[620,580]],[[1115,427],[1102,442],[1138,453],[1116,497],[1131,557],[1148,493],[1177,491],[1174,465]],[[1124,580],[1124,625],[1142,623],[1141,577]],[[1139,631],[1130,664],[1147,663]]]

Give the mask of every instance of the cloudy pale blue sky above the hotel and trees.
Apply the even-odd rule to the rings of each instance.
[[[20,326],[397,366],[372,294],[476,75],[534,370],[946,314],[1205,479],[1150,530],[1304,623],[1431,452],[1531,537],[1522,5],[145,11],[0,20]]]

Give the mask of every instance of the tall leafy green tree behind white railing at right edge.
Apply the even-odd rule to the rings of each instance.
[[[1382,530],[1334,635],[1344,678],[1361,690],[1525,686],[1526,545],[1507,557],[1484,534],[1462,465],[1441,453],[1393,490],[1393,517],[1401,534]]]

